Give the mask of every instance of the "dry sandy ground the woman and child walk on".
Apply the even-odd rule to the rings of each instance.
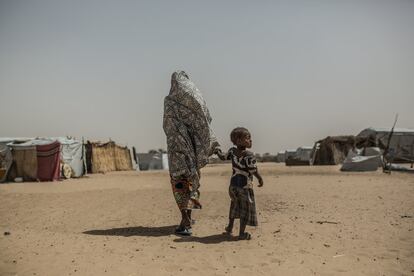
[[[229,165],[203,169],[186,238],[167,172],[2,184],[0,275],[414,275],[414,175],[260,169],[250,241],[221,234]]]

